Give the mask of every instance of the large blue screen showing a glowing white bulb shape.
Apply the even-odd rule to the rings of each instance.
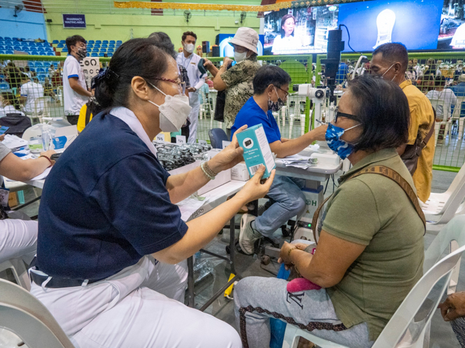
[[[407,49],[436,49],[444,0],[389,0],[343,3],[339,24],[349,29],[350,45],[372,52],[387,42],[402,42]],[[463,11],[462,11],[463,13]],[[351,52],[342,27],[344,52]]]

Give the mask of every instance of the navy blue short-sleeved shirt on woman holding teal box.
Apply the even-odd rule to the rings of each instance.
[[[98,280],[178,242],[188,226],[169,200],[168,177],[125,122],[94,117],[45,180],[40,271]]]

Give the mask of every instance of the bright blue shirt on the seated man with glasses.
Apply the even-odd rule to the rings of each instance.
[[[236,115],[236,120],[234,120],[234,125],[231,127],[231,140],[234,135],[234,132],[241,128],[243,125],[247,127],[252,127],[261,123],[264,127],[266,134],[266,139],[268,143],[274,143],[275,141],[281,140],[280,128],[277,127],[275,116],[273,113],[268,110],[268,113],[265,113],[263,109],[255,102],[254,97],[250,97],[244,106]]]

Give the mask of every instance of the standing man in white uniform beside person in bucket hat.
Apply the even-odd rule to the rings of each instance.
[[[188,77],[190,81],[189,92],[189,104],[192,106],[192,110],[189,114],[190,126],[189,126],[189,139],[188,143],[195,143],[197,141],[197,124],[199,122],[199,89],[205,84],[206,74],[200,72],[197,68],[199,64],[200,56],[193,53],[195,49],[195,42],[197,41],[197,35],[192,31],[186,31],[183,33],[182,41],[183,52],[179,53],[176,58],[176,63],[182,65],[185,70],[188,71]]]

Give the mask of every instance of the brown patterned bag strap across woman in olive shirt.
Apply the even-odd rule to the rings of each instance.
[[[406,180],[401,175],[399,175],[399,173],[397,173],[396,171],[394,171],[391,168],[388,168],[386,166],[372,166],[372,167],[363,168],[361,171],[358,171],[357,173],[355,173],[351,177],[349,177],[349,179],[347,179],[346,181],[349,181],[349,180],[353,179],[354,177],[358,177],[358,176],[363,175],[363,174],[379,174],[379,175],[383,175],[384,177],[389,177],[390,180],[393,180],[394,182],[397,182],[397,184],[404,190],[407,197],[409,197],[411,203],[415,207],[415,209],[417,211],[417,214],[418,214],[418,216],[420,216],[420,219],[421,219],[421,221],[423,223],[423,226],[425,226],[425,232],[426,232],[425,214],[423,214],[423,211],[422,211],[422,209],[420,207],[420,203],[418,203],[418,197],[417,197],[415,191],[413,191],[410,184],[408,182],[406,182]],[[331,196],[333,196],[333,195],[331,195]],[[317,231],[317,227],[318,227],[317,226],[318,216],[320,214],[321,209],[326,204],[328,199],[331,198],[331,196],[329,196],[328,198],[323,200],[323,203],[321,203],[321,205],[319,205],[319,207],[317,208],[317,211],[313,214],[312,229],[313,229],[313,237],[315,239],[315,242],[317,242],[317,232],[316,231]]]

